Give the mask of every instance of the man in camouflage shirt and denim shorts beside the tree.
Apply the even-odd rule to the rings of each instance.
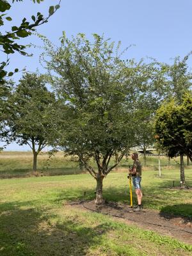
[[[129,175],[132,176],[132,184],[135,188],[136,195],[138,198],[138,205],[134,209],[134,211],[141,211],[141,200],[143,197],[141,191],[141,163],[138,159],[138,153],[132,153],[131,158],[134,162],[132,164],[132,168],[129,169]]]

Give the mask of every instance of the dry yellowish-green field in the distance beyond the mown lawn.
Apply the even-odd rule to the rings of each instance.
[[[179,169],[179,158],[170,159],[165,156],[161,156],[161,168],[166,170]],[[143,156],[140,156],[141,164],[143,164]],[[186,163],[186,159],[185,159]],[[129,165],[132,164],[131,157],[122,159],[118,165],[120,172],[126,171]],[[92,163],[96,168],[96,164]],[[62,152],[57,152],[54,156],[49,159],[45,152],[40,153],[37,160],[38,173],[42,175],[65,175],[65,174],[76,174],[81,173],[79,170],[78,163],[71,161],[70,157],[63,157]],[[192,168],[192,164],[187,166]],[[3,151],[0,153],[0,178],[11,178],[11,177],[30,177],[33,176],[33,154],[32,152],[8,152]],[[125,170],[126,169],[126,170]],[[158,170],[158,157],[147,156],[147,167],[146,170]],[[115,170],[116,172],[116,170]]]

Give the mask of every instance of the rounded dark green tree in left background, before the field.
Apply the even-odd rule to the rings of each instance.
[[[9,140],[19,145],[29,145],[33,151],[33,170],[36,159],[47,145],[47,134],[51,133],[47,115],[55,107],[54,94],[45,86],[43,76],[26,74],[10,95],[9,99]]]

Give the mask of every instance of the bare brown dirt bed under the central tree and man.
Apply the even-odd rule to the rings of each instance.
[[[172,214],[160,214],[159,211],[150,209],[134,212],[128,205],[116,204],[114,202],[108,202],[100,206],[95,205],[93,201],[81,204],[73,202],[70,205],[76,208],[81,207],[81,209],[86,211],[109,214],[114,218],[123,220],[125,223],[134,224],[192,245],[192,222],[189,218]]]

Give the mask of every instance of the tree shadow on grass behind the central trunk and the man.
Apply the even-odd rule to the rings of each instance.
[[[152,186],[143,186],[143,205],[144,209],[159,209],[161,213],[170,213],[178,216],[190,216],[192,215],[192,205],[186,202],[180,204],[177,207],[172,205],[174,204],[174,200],[176,200],[179,196],[181,200],[184,200],[190,196],[191,191],[189,189],[172,189],[170,188],[170,180],[164,180],[163,183]],[[125,205],[130,205],[130,193],[129,186],[109,186],[104,187],[103,196],[108,202],[117,202]],[[95,189],[86,189],[86,188],[78,188],[78,189],[67,189],[61,191],[56,198],[56,202],[62,202],[65,204],[66,202],[73,201],[81,201],[81,200],[94,200],[95,199]],[[132,189],[132,201],[133,205],[137,205],[137,198]],[[177,199],[178,202],[178,199]]]

